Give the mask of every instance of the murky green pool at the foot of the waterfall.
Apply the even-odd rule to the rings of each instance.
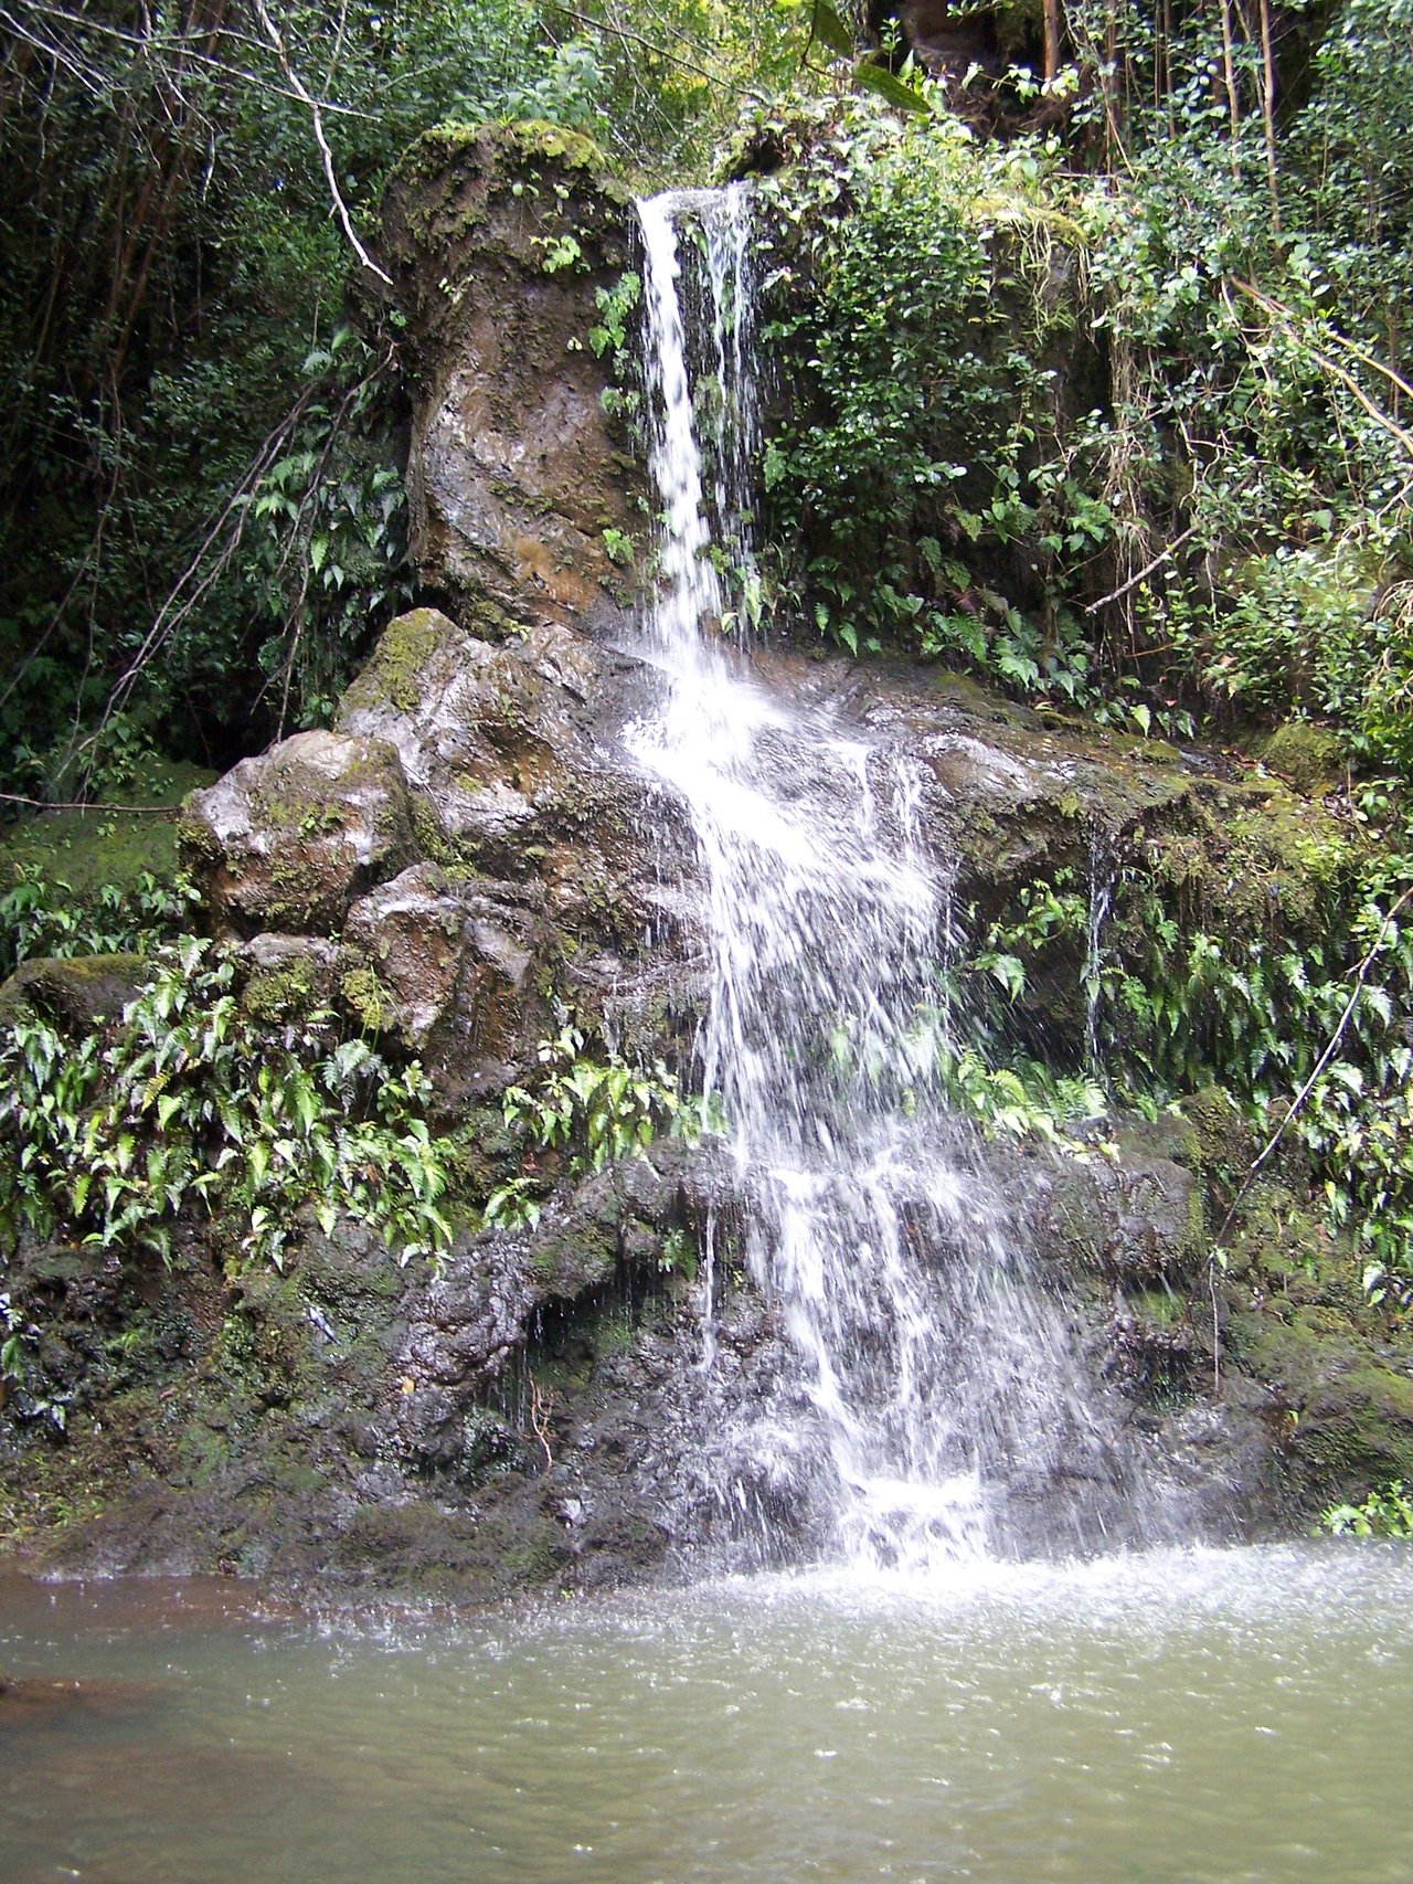
[[[1413,1556],[492,1616],[0,1581],[6,1884],[1407,1884]]]

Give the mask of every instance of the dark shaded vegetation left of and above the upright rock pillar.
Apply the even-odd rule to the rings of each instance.
[[[382,179],[441,119],[669,160],[722,60],[782,41],[676,11],[6,13],[0,789],[121,793],[134,752],[224,763],[328,712],[411,580]]]

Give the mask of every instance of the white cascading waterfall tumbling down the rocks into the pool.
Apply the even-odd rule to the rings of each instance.
[[[786,1415],[776,1398],[716,1436],[720,1505],[763,1554],[810,1507],[833,1552],[872,1566],[1029,1549],[1036,1530],[1095,1543],[1142,1507],[1142,1475],[938,1093],[950,897],[919,840],[927,769],[840,708],[782,697],[716,633],[708,497],[727,544],[750,511],[750,198],[669,192],[639,217],[665,520],[642,652],[663,695],[629,742],[686,803],[705,865],[703,1076],[727,1119],[744,1259],[799,1370]],[[708,480],[693,390],[712,375],[737,435],[716,441]]]

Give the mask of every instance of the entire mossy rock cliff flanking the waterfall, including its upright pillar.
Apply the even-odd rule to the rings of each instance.
[[[43,1330],[41,1377],[0,1415],[4,1511],[55,1569],[484,1596],[750,1562],[722,1434],[742,1407],[810,1426],[742,1270],[750,1189],[710,1136],[659,1132],[595,1168],[552,1140],[528,1151],[503,1108],[565,1025],[614,1066],[690,1064],[703,1012],[701,861],[622,737],[659,684],[609,554],[639,526],[641,482],[586,341],[629,260],[622,192],[561,134],[439,132],[392,185],[388,241],[414,543],[439,607],[388,629],[330,731],[194,793],[187,844],[215,933],[239,946],[247,1012],[332,1006],[394,1061],[420,1057],[437,1123],[463,1132],[456,1234],[435,1268],[399,1270],[364,1226],[303,1217],[284,1274],[232,1262],[196,1213],[166,1268],[19,1247],[6,1287]],[[759,667],[921,765],[918,840],[978,936],[1036,882],[1093,893],[1096,857],[1298,925],[1321,895],[1311,857],[1349,842],[1223,755],[1042,723],[934,669]],[[1068,1064],[1087,946],[1061,936],[1027,989],[1029,1042]],[[11,1004],[85,1025],[62,965],[47,976]],[[1213,1266],[1223,1187],[1251,1151],[1198,1095],[1070,1153],[959,1153],[1014,1200],[1089,1366],[1217,1535],[1413,1475],[1407,1356],[1360,1317],[1353,1257],[1309,1221],[1298,1172],[1253,1198]],[[507,1185],[533,1193],[537,1221],[486,1226]],[[64,1436],[30,1417],[43,1396],[68,1407]],[[769,1515],[788,1549],[827,1530],[808,1498]]]

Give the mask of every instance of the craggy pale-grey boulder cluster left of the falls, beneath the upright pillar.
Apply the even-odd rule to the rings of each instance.
[[[448,1112],[505,1087],[556,1000],[671,1031],[663,951],[695,867],[639,842],[661,808],[610,722],[641,684],[554,624],[486,642],[433,609],[394,622],[332,733],[188,801],[219,933],[256,965],[247,1000],[318,991],[416,1051]]]

